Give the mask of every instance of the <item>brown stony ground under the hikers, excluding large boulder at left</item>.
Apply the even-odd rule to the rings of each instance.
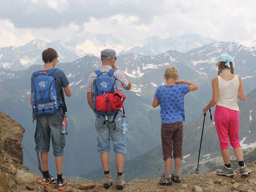
[[[0,191],[25,192],[42,191],[57,192],[56,184],[41,185],[41,176],[30,172],[26,167],[17,163],[15,158],[8,156],[2,151],[0,156]],[[256,162],[249,164],[252,174],[248,177],[240,177],[238,170],[235,171],[234,178],[220,177],[215,172],[198,175],[184,175],[181,177],[181,183],[172,183],[172,186],[160,186],[159,178],[149,180],[130,180],[125,182],[123,191],[256,191]],[[106,190],[102,181],[81,181],[69,180],[69,185],[63,192],[82,192],[82,191],[118,191],[116,183]]]

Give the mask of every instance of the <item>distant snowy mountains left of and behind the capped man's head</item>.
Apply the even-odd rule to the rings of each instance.
[[[100,51],[106,48],[123,50],[120,43],[121,40],[115,34],[98,33],[88,33],[68,42],[45,42],[36,39],[23,46],[0,48],[0,68],[18,71],[34,64],[43,64],[42,52],[48,47],[58,52],[60,62],[71,62],[88,54],[100,56]]]

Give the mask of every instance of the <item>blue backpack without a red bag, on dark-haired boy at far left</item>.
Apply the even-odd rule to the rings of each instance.
[[[33,116],[46,116],[57,113],[60,102],[57,100],[55,78],[53,72],[57,68],[51,68],[48,73],[36,71],[33,80]]]

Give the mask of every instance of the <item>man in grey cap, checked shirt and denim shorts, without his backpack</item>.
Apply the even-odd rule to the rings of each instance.
[[[113,76],[116,78],[116,87],[119,92],[122,91],[122,87],[126,90],[131,89],[131,82],[124,76],[124,73],[116,67],[116,52],[113,49],[105,49],[101,51],[101,72],[109,72],[111,69],[116,69]],[[86,86],[87,101],[94,112],[93,103],[93,81],[97,78],[95,72],[91,73],[88,78]],[[114,116],[108,116],[109,122],[113,120]],[[101,163],[104,169],[104,187],[109,188],[112,185],[112,175],[109,172],[109,156],[110,151],[110,135],[114,146],[114,152],[116,153],[116,185],[117,189],[123,189],[124,187],[124,153],[127,153],[125,146],[125,135],[122,132],[122,123],[116,123],[116,128],[110,123],[106,123],[103,126],[104,116],[95,114],[95,129],[97,131],[97,151],[100,152]],[[121,121],[121,111],[116,115],[115,121]]]

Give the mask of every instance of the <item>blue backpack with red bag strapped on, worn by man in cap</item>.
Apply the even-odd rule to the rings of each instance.
[[[116,78],[113,76],[116,69],[111,69],[109,72],[101,72],[100,70],[94,71],[98,76],[93,81],[94,86],[94,111],[98,115],[108,116],[108,115],[116,115],[119,110],[112,111],[98,111],[96,110],[96,97],[99,95],[103,95],[105,92],[113,93],[117,90],[116,88]],[[107,73],[103,75],[103,73]]]

